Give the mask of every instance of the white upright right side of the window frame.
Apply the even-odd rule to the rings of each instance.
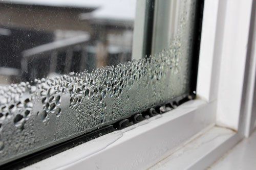
[[[254,59],[248,56],[250,52],[247,50],[248,44],[253,44],[253,40],[249,42],[249,36],[252,36],[249,34],[253,33],[250,33],[252,2],[205,1],[198,74],[199,97],[208,102],[217,101],[216,124],[242,135],[244,126],[247,126],[244,123],[246,101],[243,93],[251,88],[246,87],[248,82],[245,80],[254,83],[251,80],[253,71],[250,71],[250,78],[247,73],[253,69],[255,72],[255,56]],[[246,65],[246,60],[252,63]]]

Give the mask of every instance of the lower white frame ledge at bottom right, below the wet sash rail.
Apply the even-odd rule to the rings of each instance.
[[[239,140],[239,135],[230,129],[212,127],[150,169],[206,169]]]

